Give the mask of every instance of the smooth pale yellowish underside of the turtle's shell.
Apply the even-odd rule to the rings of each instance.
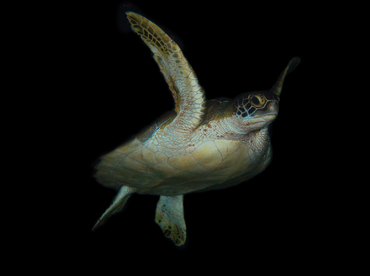
[[[236,185],[268,165],[270,150],[257,156],[244,142],[233,140],[205,140],[191,152],[168,156],[151,143],[168,117],[102,156],[97,181],[115,189],[129,186],[142,194],[175,196]]]

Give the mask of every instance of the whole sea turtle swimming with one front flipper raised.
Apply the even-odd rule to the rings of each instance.
[[[239,184],[269,164],[268,126],[278,114],[285,76],[300,59],[293,58],[268,91],[206,100],[180,47],[145,17],[126,15],[152,51],[175,108],[101,157],[95,178],[118,194],[94,228],[120,211],[132,193],[159,195],[155,222],[180,246],[186,239],[185,194]]]

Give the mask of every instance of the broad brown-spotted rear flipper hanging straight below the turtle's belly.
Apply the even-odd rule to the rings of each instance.
[[[183,245],[186,240],[183,198],[183,195],[161,196],[155,214],[155,222],[163,234],[177,246]]]

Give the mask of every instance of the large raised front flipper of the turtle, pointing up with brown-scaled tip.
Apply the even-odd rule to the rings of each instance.
[[[203,120],[205,97],[193,68],[180,47],[161,28],[137,13],[126,14],[132,30],[153,52],[172,92],[177,117],[171,122],[171,130],[181,133],[194,130]]]

